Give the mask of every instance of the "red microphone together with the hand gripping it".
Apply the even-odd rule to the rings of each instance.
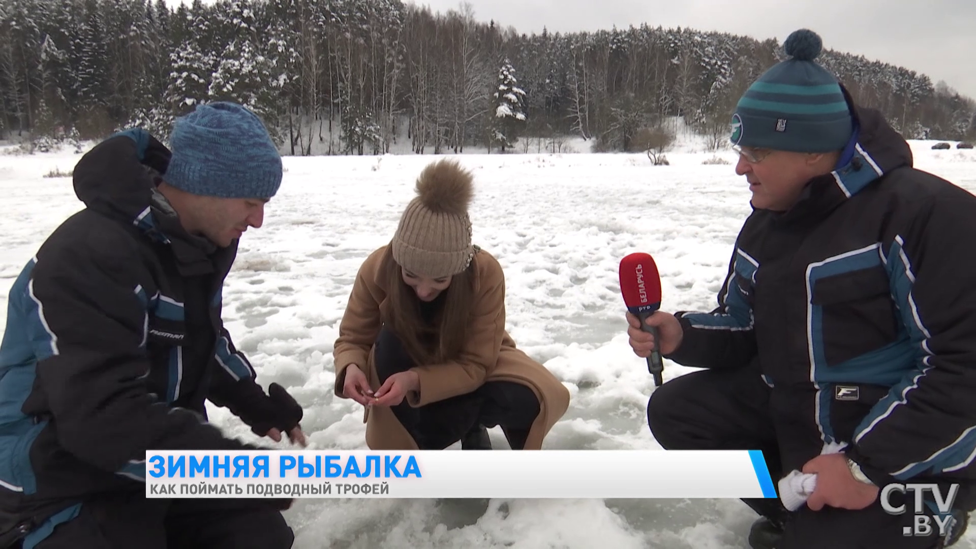
[[[654,385],[660,387],[664,383],[661,354],[677,349],[683,331],[677,318],[658,311],[661,308],[661,276],[650,254],[632,253],[621,260],[620,289],[628,310],[630,347],[635,355],[647,359]]]

